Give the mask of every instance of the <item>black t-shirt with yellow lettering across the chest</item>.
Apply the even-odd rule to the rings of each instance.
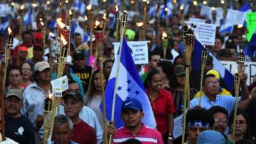
[[[74,74],[82,81],[84,93],[87,92],[92,73],[92,67],[85,65],[84,68],[78,69],[74,66],[71,67]]]

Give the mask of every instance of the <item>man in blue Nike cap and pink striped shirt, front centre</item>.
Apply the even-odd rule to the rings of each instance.
[[[132,98],[125,100],[122,103],[121,116],[124,121],[124,127],[116,130],[113,122],[109,124],[108,136],[113,134],[114,144],[122,143],[130,138],[135,138],[141,141],[142,144],[163,144],[160,132],[141,123],[144,113],[139,100]]]

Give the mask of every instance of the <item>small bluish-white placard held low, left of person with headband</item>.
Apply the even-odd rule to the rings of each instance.
[[[183,115],[174,118],[173,120],[173,138],[179,138],[182,135]]]

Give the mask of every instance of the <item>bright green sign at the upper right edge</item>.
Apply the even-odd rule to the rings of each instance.
[[[246,14],[246,27],[248,29],[246,38],[248,42],[250,42],[252,35],[256,29],[256,12]]]

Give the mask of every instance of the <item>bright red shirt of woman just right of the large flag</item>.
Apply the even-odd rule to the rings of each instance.
[[[175,107],[173,102],[172,93],[164,90],[163,88],[159,90],[157,98],[152,101],[149,97],[149,90],[146,90],[148,99],[150,101],[155,119],[156,127],[161,134],[168,132],[168,114],[175,113]]]

